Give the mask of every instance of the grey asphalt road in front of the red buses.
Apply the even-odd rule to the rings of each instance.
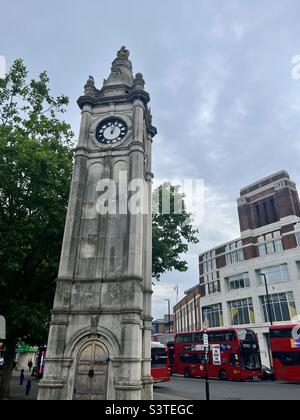
[[[212,400],[300,400],[300,384],[210,380]],[[205,381],[173,376],[154,387],[155,400],[205,400]]]

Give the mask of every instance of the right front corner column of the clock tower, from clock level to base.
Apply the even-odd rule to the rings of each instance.
[[[129,152],[129,182],[144,176],[143,104],[135,101],[133,139]],[[130,197],[130,194],[129,194]],[[140,278],[135,287],[135,296],[126,302],[131,308],[122,319],[122,357],[120,378],[115,385],[117,399],[140,400],[142,395],[142,313],[143,313],[143,215],[129,213],[128,275]]]

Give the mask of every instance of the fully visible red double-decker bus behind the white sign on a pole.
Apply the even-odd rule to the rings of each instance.
[[[206,376],[203,331],[178,333],[174,344],[174,371],[185,377]],[[221,380],[263,377],[258,339],[250,329],[207,332],[208,376]]]

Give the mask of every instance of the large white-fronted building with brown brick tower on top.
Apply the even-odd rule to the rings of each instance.
[[[250,327],[269,364],[267,276],[273,321],[300,315],[300,204],[286,171],[241,190],[241,237],[199,257],[200,312],[210,328]]]

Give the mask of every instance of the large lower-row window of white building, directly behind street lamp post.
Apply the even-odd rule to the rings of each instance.
[[[266,296],[261,297],[265,322],[270,322],[268,300]],[[297,317],[297,310],[292,292],[270,295],[270,311],[273,322],[291,321]]]

